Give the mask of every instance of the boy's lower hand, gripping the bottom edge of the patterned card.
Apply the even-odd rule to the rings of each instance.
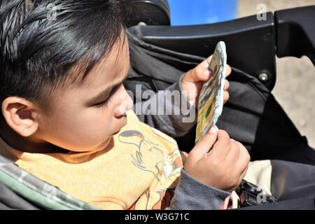
[[[211,128],[185,162],[185,171],[208,186],[232,192],[244,178],[251,159],[246,148],[227,132]],[[211,151],[209,151],[209,149]]]

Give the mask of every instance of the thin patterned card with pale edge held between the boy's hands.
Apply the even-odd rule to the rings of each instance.
[[[216,124],[223,110],[223,94],[226,70],[226,50],[223,41],[218,42],[209,64],[213,71],[211,78],[204,83],[198,102],[196,143]]]

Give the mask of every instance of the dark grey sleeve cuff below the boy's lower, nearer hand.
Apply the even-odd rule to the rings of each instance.
[[[217,210],[231,193],[204,185],[181,170],[179,186],[167,209],[174,210]]]

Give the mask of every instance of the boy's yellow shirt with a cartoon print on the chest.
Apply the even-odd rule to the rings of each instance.
[[[176,141],[129,111],[113,148],[92,153],[22,153],[2,139],[0,153],[27,172],[101,209],[164,209],[183,161]]]

